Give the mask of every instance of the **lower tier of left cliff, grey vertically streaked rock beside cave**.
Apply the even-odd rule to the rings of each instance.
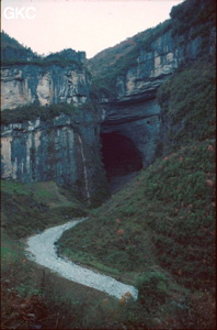
[[[39,118],[2,128],[2,178],[56,180],[91,201],[106,187],[99,136],[91,114]],[[93,162],[94,160],[94,162]]]

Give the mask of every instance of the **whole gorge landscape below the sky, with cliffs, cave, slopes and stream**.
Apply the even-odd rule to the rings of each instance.
[[[216,329],[215,19],[89,59],[1,33],[2,329]]]

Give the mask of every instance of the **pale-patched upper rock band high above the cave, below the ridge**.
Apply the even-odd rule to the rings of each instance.
[[[134,66],[117,78],[118,100],[153,98],[163,78],[172,74],[181,61],[180,52],[169,31],[152,42],[151,52],[140,48]]]

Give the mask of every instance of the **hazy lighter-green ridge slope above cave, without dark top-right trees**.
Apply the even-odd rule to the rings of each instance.
[[[171,22],[168,20],[99,53],[90,59],[88,65],[92,74],[93,95],[115,98],[117,77],[126,74],[132,66],[136,65],[140,48],[151,52],[151,43],[170,28]]]

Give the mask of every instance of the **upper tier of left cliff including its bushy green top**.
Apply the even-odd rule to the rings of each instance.
[[[84,52],[64,50],[38,56],[1,33],[1,109],[84,103],[89,98],[84,63]]]

